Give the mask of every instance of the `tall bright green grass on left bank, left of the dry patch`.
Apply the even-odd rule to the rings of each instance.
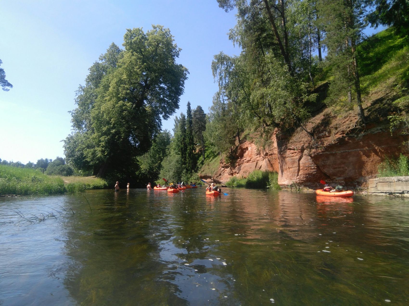
[[[64,193],[61,177],[50,177],[38,169],[0,165],[0,194],[43,195]]]

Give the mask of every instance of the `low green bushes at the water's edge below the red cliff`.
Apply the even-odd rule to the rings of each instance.
[[[247,178],[231,177],[226,183],[230,187],[245,188],[271,188],[272,190],[281,190],[278,184],[278,173],[270,171],[254,170],[249,173]]]

